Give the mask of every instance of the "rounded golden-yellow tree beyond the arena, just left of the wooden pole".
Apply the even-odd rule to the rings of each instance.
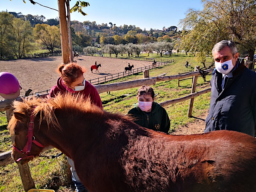
[[[38,43],[43,44],[53,53],[53,48],[60,45],[60,30],[56,26],[36,24],[34,36]]]

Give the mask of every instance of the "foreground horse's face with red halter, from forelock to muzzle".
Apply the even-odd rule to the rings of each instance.
[[[14,102],[13,116],[8,124],[11,135],[15,136],[12,149],[12,158],[16,163],[26,164],[38,156],[44,145],[37,139],[38,124],[35,119],[37,107],[33,104],[37,102],[35,97],[27,102]],[[30,106],[29,106],[30,105]]]

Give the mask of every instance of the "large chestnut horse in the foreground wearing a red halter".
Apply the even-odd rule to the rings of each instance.
[[[43,146],[56,147],[91,192],[256,191],[256,140],[244,133],[167,135],[79,95],[14,101],[13,114],[14,160],[25,164]]]

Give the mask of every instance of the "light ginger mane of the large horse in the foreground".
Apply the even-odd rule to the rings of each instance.
[[[118,118],[118,119],[131,119],[130,117],[124,117],[121,114],[113,114],[104,112],[98,106],[91,103],[91,100],[84,99],[83,94],[64,93],[57,94],[55,98],[22,98],[22,101],[13,102],[13,112],[19,112],[29,116],[33,114],[37,116],[40,114],[39,128],[44,121],[47,123],[48,128],[50,125],[56,129],[62,130],[58,119],[55,115],[55,111],[61,110],[63,114],[68,114],[70,118],[77,118],[84,113],[94,113],[97,117]],[[8,124],[10,132],[14,129],[17,119],[12,118]]]

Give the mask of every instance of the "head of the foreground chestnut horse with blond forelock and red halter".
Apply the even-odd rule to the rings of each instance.
[[[55,115],[46,99],[36,97],[14,101],[13,107],[13,116],[8,124],[11,135],[15,136],[12,158],[16,163],[26,164],[50,145],[43,136],[49,124],[56,124],[53,122]]]

